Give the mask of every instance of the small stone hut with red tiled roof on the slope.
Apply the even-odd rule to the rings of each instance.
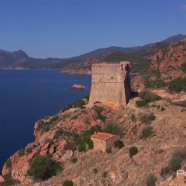
[[[100,150],[102,152],[112,149],[112,147],[114,147],[114,143],[118,139],[118,136],[106,132],[98,132],[91,136],[91,140],[94,144],[94,150]]]

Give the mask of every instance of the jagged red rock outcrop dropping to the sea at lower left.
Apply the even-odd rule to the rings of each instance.
[[[81,133],[90,128],[92,124],[95,125],[94,114],[91,114],[90,110],[84,109],[82,112],[81,109],[74,108],[36,122],[35,141],[28,144],[21,150],[21,153],[18,151],[9,158],[11,165],[7,166],[5,163],[2,176],[10,174],[13,179],[31,183],[32,179],[27,176],[27,171],[30,161],[36,154],[50,155],[53,160],[59,162],[70,159],[74,154],[73,147],[71,149],[65,149],[65,147],[69,142],[72,144],[74,142],[72,135],[69,134]],[[0,177],[0,181],[3,182],[3,177]]]

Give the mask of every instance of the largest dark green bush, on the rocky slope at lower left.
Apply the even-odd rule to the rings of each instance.
[[[33,177],[35,180],[46,180],[61,171],[61,166],[56,163],[48,155],[41,156],[37,154],[30,161],[30,169],[28,175]]]

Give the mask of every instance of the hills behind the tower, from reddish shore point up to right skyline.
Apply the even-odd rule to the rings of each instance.
[[[167,49],[171,44],[181,41],[185,35],[176,35],[167,38],[161,42],[151,43],[141,47],[109,47],[105,49],[98,49],[93,52],[81,55],[77,58],[78,61],[70,62],[69,65],[62,69],[62,72],[72,74],[90,74],[90,67],[92,63],[100,62],[117,62],[130,61],[133,72],[142,72],[150,67],[152,56],[159,50]]]

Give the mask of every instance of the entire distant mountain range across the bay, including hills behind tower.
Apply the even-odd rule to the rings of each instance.
[[[186,35],[176,35],[158,43],[150,43],[144,46],[100,48],[89,53],[59,59],[36,59],[29,57],[24,51],[9,52],[0,50],[0,69],[25,68],[25,69],[63,69],[64,72],[85,72],[90,70],[90,65],[95,61],[120,61],[129,60],[134,71],[141,71],[150,63],[151,56],[159,49],[164,49],[172,43],[181,41]],[[82,69],[83,68],[83,69]]]

